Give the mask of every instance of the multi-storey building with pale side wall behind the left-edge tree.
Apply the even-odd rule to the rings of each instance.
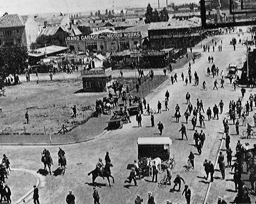
[[[37,37],[37,23],[32,16],[7,14],[0,18],[0,46],[20,45],[30,49]]]

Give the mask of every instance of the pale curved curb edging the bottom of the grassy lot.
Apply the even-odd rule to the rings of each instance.
[[[67,142],[67,143],[54,143],[54,144],[50,144],[50,143],[39,143],[39,144],[29,144],[29,143],[24,143],[24,144],[18,144],[18,143],[13,143],[13,144],[0,144],[0,146],[60,146],[60,145],[68,145],[68,144],[79,144],[79,143],[83,143],[83,142],[88,142],[90,140],[93,140],[93,139],[97,139],[101,136],[103,136],[106,132],[108,132],[108,130],[104,130],[102,133],[100,133],[99,135],[97,136],[94,136],[92,138],[89,138],[89,139],[85,139],[85,140],[82,140],[82,141],[78,141],[78,142]]]

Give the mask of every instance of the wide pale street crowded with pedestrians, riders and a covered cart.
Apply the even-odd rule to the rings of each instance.
[[[166,90],[169,90],[170,92],[170,111],[163,111],[161,114],[156,114],[155,123],[157,124],[158,121],[161,121],[164,125],[163,136],[168,136],[172,139],[171,149],[176,161],[175,169],[172,172],[174,175],[173,179],[177,174],[180,174],[180,176],[184,178],[186,184],[189,185],[189,188],[192,191],[192,203],[204,202],[208,182],[204,179],[204,169],[202,166],[203,161],[204,159],[211,159],[213,163],[215,162],[221,144],[221,138],[223,136],[222,119],[226,116],[224,113],[228,111],[229,101],[232,99],[237,100],[238,97],[241,96],[239,89],[237,91],[233,91],[228,79],[225,79],[224,89],[220,88],[220,76],[215,77],[215,79],[218,79],[219,83],[218,90],[212,90],[215,79],[213,79],[212,76],[207,76],[207,67],[212,66],[212,64],[208,63],[208,55],[214,57],[215,65],[220,69],[220,72],[221,70],[224,70],[225,74],[227,74],[226,67],[229,63],[239,65],[244,57],[246,51],[245,46],[238,45],[237,51],[233,51],[233,46],[229,44],[232,37],[237,37],[236,34],[229,34],[220,37],[223,40],[222,52],[217,51],[217,48],[215,49],[215,52],[212,52],[212,49],[210,53],[201,52],[202,57],[200,59],[196,59],[195,64],[192,64],[192,77],[194,77],[194,72],[197,71],[199,76],[199,86],[194,86],[194,80],[192,80],[192,84],[187,86],[185,85],[185,82],[181,81],[181,72],[183,72],[185,77],[188,75],[188,66],[186,65],[184,68],[175,70],[178,76],[177,83],[172,85],[171,81],[168,80],[164,85],[157,88],[157,90],[152,92],[146,98],[147,102],[151,105],[151,108],[156,110],[157,101],[162,102],[162,107],[164,107],[164,94]],[[219,43],[220,41],[218,41],[218,44]],[[202,49],[197,46],[193,51],[202,51]],[[134,71],[125,72],[125,74],[128,73],[132,74]],[[157,71],[157,73],[162,73],[162,70]],[[207,83],[207,91],[204,91],[201,88],[203,80]],[[191,118],[189,118],[189,124],[186,125],[188,130],[188,141],[180,140],[181,136],[178,132],[181,127],[181,123],[184,123],[185,121],[183,113],[187,106],[185,103],[186,92],[191,94],[191,101],[194,107],[196,105],[196,99],[202,99],[205,111],[208,107],[211,107],[212,109],[215,104],[218,105],[220,99],[223,99],[224,101],[224,113],[220,116],[219,120],[212,119],[210,122],[205,122],[206,129],[203,130],[206,133],[206,142],[201,155],[197,154],[193,145],[194,141],[192,136],[194,131],[192,130]],[[250,93],[254,94],[255,91],[247,89],[245,99],[249,97]],[[182,115],[180,123],[176,123],[175,118],[173,117],[175,113],[175,105],[177,103],[180,105],[180,113]],[[150,127],[149,116],[143,116],[142,128],[137,127],[135,117],[131,117],[131,120],[132,123],[124,125],[122,129],[108,131],[100,138],[85,143],[63,146],[62,148],[65,150],[67,155],[67,173],[64,176],[47,176],[45,186],[39,188],[41,203],[64,203],[68,190],[70,189],[73,190],[73,194],[76,196],[77,204],[93,203],[92,181],[91,177],[87,176],[87,173],[95,168],[95,164],[99,158],[104,160],[106,151],[110,152],[111,163],[114,165],[111,172],[115,178],[115,184],[113,187],[106,187],[102,185],[98,188],[101,203],[119,204],[122,202],[125,204],[131,204],[134,203],[134,199],[137,194],[140,194],[145,200],[147,200],[148,191],[153,193],[157,204],[164,204],[166,199],[170,199],[174,204],[186,203],[184,196],[182,196],[180,192],[169,192],[170,188],[173,187],[173,179],[172,186],[167,186],[166,188],[159,188],[156,183],[150,182],[151,177],[139,180],[138,187],[124,183],[130,172],[130,170],[127,170],[127,164],[132,164],[134,159],[137,159],[137,138],[159,136],[157,127]],[[198,131],[201,130],[199,127],[196,129]],[[231,126],[231,134],[233,131],[234,127]],[[86,134],[86,132],[81,132],[81,134]],[[234,146],[238,138],[238,136],[231,136],[231,147],[233,149],[233,153]],[[247,140],[243,140],[242,143],[245,141]],[[4,146],[1,149],[2,153],[6,153],[8,155],[12,164],[11,167],[26,168],[35,171],[43,168],[40,154],[43,150],[42,146]],[[55,170],[58,167],[58,147],[51,146],[47,147],[47,149],[51,152],[54,162],[52,170]],[[190,150],[195,153],[195,170],[185,172],[183,166],[186,164]],[[225,153],[224,155],[226,157]],[[227,168],[227,179],[231,179],[233,177],[233,175],[228,174],[229,171],[230,168]],[[163,176],[164,173],[160,174],[158,180],[160,181]],[[216,172],[215,177],[221,177],[220,172]],[[96,182],[107,184],[107,180],[103,180],[102,178],[97,178]],[[181,190],[183,190],[183,187],[184,184],[182,184]],[[226,201],[232,201],[236,193],[229,189],[234,189],[233,181],[215,179],[210,188],[207,201],[209,203],[216,203],[217,197],[220,195],[224,197]],[[255,197],[253,199],[255,200]],[[27,199],[25,203],[32,203],[32,201]]]

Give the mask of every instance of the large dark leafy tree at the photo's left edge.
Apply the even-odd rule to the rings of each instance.
[[[12,46],[0,48],[0,88],[4,87],[4,80],[9,74],[22,74],[27,68],[28,52],[26,47]],[[17,79],[15,77],[15,84]]]

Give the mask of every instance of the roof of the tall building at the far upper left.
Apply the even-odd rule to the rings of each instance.
[[[7,14],[0,18],[0,27],[20,27],[25,26],[23,18],[18,14]]]

